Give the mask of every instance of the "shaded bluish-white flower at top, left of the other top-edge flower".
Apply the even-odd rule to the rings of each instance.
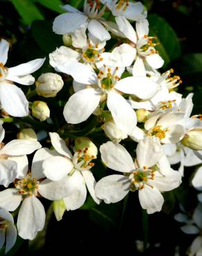
[[[63,6],[63,9],[66,10],[67,13],[55,18],[53,31],[59,35],[74,33],[80,26],[86,24],[91,35],[99,39],[100,42],[107,41],[111,36],[101,24],[105,8],[106,6],[100,8],[100,4],[97,1],[91,1],[91,3],[89,3],[85,0],[83,13],[67,4]]]

